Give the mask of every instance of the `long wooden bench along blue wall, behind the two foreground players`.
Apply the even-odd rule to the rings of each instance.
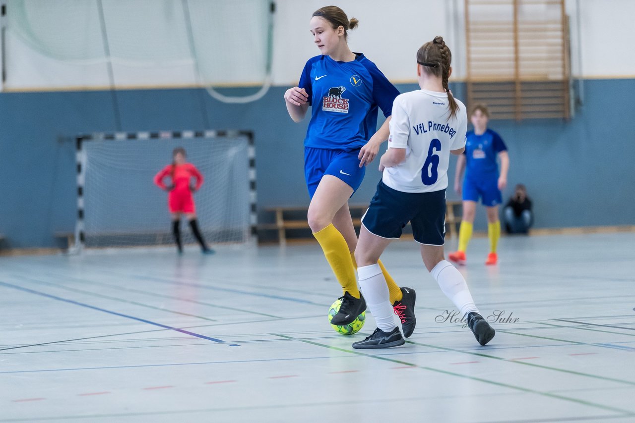
[[[462,202],[460,201],[448,201],[446,202],[446,231],[448,235],[458,236],[458,225],[461,223],[460,207]],[[349,205],[351,209],[351,216],[353,226],[356,230],[361,227],[361,218],[368,209],[368,205]],[[288,238],[294,238],[297,240],[310,240],[311,237],[289,237],[288,231],[290,230],[305,230],[309,231],[309,222],[307,221],[307,207],[272,207],[266,209],[267,212],[272,213],[274,216],[274,223],[264,223],[258,225],[259,230],[269,230],[277,232],[277,241],[280,245],[286,245]]]

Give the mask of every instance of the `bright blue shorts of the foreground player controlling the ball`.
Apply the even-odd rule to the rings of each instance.
[[[342,179],[355,193],[366,174],[366,167],[359,167],[358,155],[359,148],[347,151],[304,147],[304,178],[309,188],[309,196],[313,198],[324,175]]]

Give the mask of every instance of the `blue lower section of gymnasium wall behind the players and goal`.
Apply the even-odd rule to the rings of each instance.
[[[537,228],[635,224],[635,79],[588,80],[584,86],[584,105],[570,122],[490,122],[511,157],[504,198],[514,184],[525,183]],[[458,98],[464,98],[464,88],[453,87]],[[205,129],[205,120],[213,129],[254,131],[262,212],[309,202],[302,172],[308,119],[291,121],[284,91],[272,88],[262,100],[246,105],[218,103],[200,89],[117,91],[117,99],[123,131]],[[74,228],[72,136],[115,131],[112,96],[104,91],[0,93],[0,110],[0,233],[10,247],[51,247],[53,233]],[[455,163],[452,159],[450,181]],[[375,169],[375,164],[367,169],[351,202],[370,200],[380,178]],[[457,196],[448,193],[448,198]],[[485,227],[485,211],[479,209],[476,229]]]

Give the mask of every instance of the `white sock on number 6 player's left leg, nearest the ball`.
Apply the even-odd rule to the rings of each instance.
[[[384,332],[391,332],[397,327],[394,311],[390,303],[388,285],[379,264],[358,268],[359,287],[361,288],[366,306],[373,313],[377,327]]]

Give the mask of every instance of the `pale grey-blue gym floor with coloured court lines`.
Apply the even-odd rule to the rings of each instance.
[[[481,347],[394,242],[382,260],[417,291],[417,329],[362,351],[375,322],[331,329],[341,290],[317,244],[0,257],[0,422],[633,422],[633,245],[504,237],[486,267],[472,240],[461,271],[498,320]]]

